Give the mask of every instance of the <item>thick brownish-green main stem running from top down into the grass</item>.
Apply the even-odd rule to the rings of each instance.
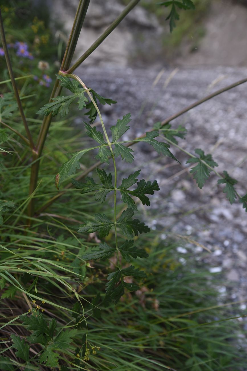
[[[74,23],[71,29],[69,41],[67,43],[66,51],[64,53],[64,58],[61,63],[60,69],[68,69],[69,65],[71,63],[71,60],[73,58],[73,53],[76,48],[77,40],[80,35],[81,27],[83,26],[83,22],[87,13],[87,9],[89,6],[90,0],[80,0],[79,5],[77,7],[76,16],[74,18]],[[56,80],[53,86],[53,90],[51,92],[51,96],[49,99],[49,102],[52,101],[53,98],[55,98],[57,95],[61,92],[61,85],[59,85],[59,81]],[[40,160],[44,144],[46,141],[46,137],[49,131],[50,123],[51,123],[52,116],[44,116],[39,137],[37,140],[37,156],[35,160]],[[39,164],[40,161],[35,161],[34,164],[31,167],[31,174],[30,174],[30,183],[29,183],[29,195],[34,192],[37,186],[38,182],[38,174],[39,174]],[[34,199],[32,198],[30,200],[28,209],[27,209],[27,215],[32,217],[34,215]],[[31,222],[31,219],[30,219]]]

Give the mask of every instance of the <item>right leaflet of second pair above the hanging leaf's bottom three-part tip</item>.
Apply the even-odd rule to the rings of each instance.
[[[131,220],[130,218],[133,215],[134,212],[131,209],[124,210],[117,221],[117,225],[121,228],[123,234],[125,234],[127,237],[133,237],[134,234],[138,236],[138,233],[150,232],[148,226],[145,226],[145,224],[140,222],[140,220]]]

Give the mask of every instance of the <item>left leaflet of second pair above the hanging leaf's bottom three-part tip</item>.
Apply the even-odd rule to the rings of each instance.
[[[100,237],[105,237],[109,234],[111,227],[114,223],[107,218],[105,214],[94,214],[96,222],[88,221],[86,224],[80,227],[73,227],[79,233],[87,232],[99,232]]]

